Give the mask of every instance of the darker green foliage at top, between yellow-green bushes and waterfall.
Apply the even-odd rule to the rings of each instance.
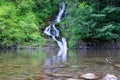
[[[57,6],[60,0],[33,0],[33,12],[36,15],[37,21],[40,24],[47,19],[53,20],[54,15],[57,13]],[[45,26],[44,26],[45,27]]]

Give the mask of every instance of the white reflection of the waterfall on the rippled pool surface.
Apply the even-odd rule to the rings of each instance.
[[[55,51],[56,54],[51,51],[47,51],[44,65],[46,66],[45,73],[58,72],[60,67],[63,67],[63,63],[67,61],[67,49],[60,49]]]

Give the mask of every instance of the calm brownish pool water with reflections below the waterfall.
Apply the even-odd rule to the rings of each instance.
[[[67,80],[70,75],[82,80],[79,76],[89,72],[120,79],[119,64],[117,49],[0,51],[0,80]]]

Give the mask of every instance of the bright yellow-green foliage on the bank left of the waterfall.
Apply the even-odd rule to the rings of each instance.
[[[35,0],[36,1],[36,0]],[[48,18],[51,12],[42,1],[38,4],[43,8],[36,9],[37,6],[33,0],[2,0],[0,1],[0,46],[12,46],[15,42],[20,45],[41,46],[45,39],[39,33],[39,23]],[[39,0],[40,1],[40,0]],[[49,0],[48,0],[49,1]],[[47,5],[47,2],[46,2]],[[41,12],[44,11],[44,12]],[[39,16],[40,14],[41,16]],[[46,15],[46,16],[45,16]]]

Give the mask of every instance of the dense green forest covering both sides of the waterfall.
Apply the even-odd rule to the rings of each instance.
[[[43,46],[43,31],[55,19],[61,0],[0,0],[0,48]],[[64,0],[66,10],[56,24],[68,46],[120,42],[120,0]]]

